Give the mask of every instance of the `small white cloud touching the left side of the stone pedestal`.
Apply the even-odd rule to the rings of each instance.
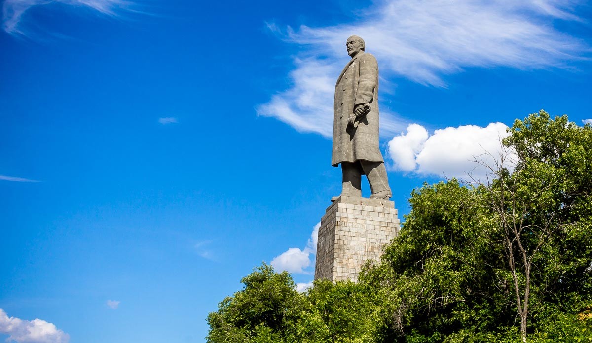
[[[308,238],[308,242],[304,250],[300,248],[289,248],[284,253],[274,257],[271,260],[271,265],[278,271],[288,271],[289,273],[301,273],[310,274],[311,271],[307,271],[306,268],[313,265],[311,255],[317,253],[317,241],[318,241],[318,228],[321,223],[314,225],[313,232]]]

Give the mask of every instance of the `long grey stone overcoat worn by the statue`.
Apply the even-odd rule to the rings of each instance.
[[[366,160],[383,162],[378,145],[378,63],[372,54],[360,52],[346,64],[335,86],[333,155],[331,164]],[[348,124],[355,105],[368,103],[371,110]]]

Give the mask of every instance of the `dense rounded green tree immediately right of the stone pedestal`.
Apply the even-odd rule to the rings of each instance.
[[[478,189],[457,180],[426,184],[409,201],[411,213],[381,264],[361,276],[382,300],[390,328],[382,341],[441,342],[493,329],[494,300],[505,295],[490,244],[494,222]]]

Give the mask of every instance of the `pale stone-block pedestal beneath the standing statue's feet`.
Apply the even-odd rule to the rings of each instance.
[[[394,202],[340,196],[321,219],[314,279],[358,281],[362,264],[378,261],[399,228]]]

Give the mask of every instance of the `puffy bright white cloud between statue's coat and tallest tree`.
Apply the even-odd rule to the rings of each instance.
[[[422,125],[411,124],[407,133],[395,136],[388,143],[388,156],[395,170],[486,181],[491,171],[475,160],[496,166],[504,153],[501,139],[507,137],[506,129],[506,124],[494,122],[487,127],[448,127],[428,135]],[[510,153],[506,167],[511,169],[515,159]]]

